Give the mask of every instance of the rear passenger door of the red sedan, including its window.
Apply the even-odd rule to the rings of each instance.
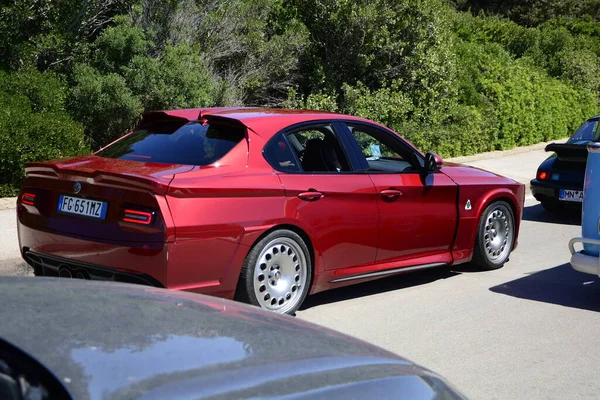
[[[285,188],[286,207],[295,210],[317,242],[325,270],[375,262],[375,188],[366,174],[354,170],[333,124],[288,129],[267,144],[265,156]]]

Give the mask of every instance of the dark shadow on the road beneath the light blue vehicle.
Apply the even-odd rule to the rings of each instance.
[[[490,288],[520,299],[600,311],[600,279],[577,272],[566,263]]]

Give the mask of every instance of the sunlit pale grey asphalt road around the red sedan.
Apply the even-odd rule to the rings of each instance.
[[[535,174],[515,157],[525,158],[473,164]],[[474,399],[598,398],[600,281],[568,264],[579,225],[577,212],[548,214],[529,199],[504,268],[442,268],[337,289],[310,296],[297,316],[401,354]],[[14,210],[0,210],[0,275],[27,274]]]

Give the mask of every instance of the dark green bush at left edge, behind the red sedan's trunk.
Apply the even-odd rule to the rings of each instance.
[[[51,73],[0,71],[0,196],[17,193],[23,165],[89,151],[64,109],[67,87]]]

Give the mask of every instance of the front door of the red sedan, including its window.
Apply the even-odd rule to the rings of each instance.
[[[424,174],[422,155],[393,132],[368,123],[345,126],[378,194],[377,263],[449,252],[458,185],[441,172]]]

